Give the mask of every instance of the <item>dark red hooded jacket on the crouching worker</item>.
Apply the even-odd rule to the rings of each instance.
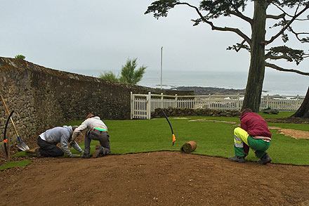
[[[267,136],[269,138],[272,136],[266,121],[254,112],[245,112],[240,116],[240,127],[246,130],[250,136]],[[244,144],[244,153],[246,155],[249,153],[249,146],[246,144]]]

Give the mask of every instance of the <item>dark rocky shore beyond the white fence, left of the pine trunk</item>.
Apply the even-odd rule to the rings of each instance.
[[[224,88],[217,88],[217,87],[202,87],[202,86],[177,86],[171,88],[177,91],[194,91],[195,95],[213,95],[213,94],[220,94],[220,95],[244,95],[245,89],[224,89]]]

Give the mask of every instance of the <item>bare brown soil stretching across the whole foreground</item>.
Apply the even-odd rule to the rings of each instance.
[[[0,172],[0,205],[308,205],[309,167],[180,152],[33,159]]]

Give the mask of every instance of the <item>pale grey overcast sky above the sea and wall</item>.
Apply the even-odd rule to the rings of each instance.
[[[198,6],[199,1],[189,2]],[[151,3],[0,0],[0,56],[22,54],[45,67],[69,72],[89,70],[88,75],[93,75],[93,70],[120,71],[128,58],[138,58],[138,65],[147,65],[147,70],[159,70],[163,46],[164,70],[248,71],[248,52],[226,51],[242,41],[237,34],[211,31],[206,24],[192,27],[190,20],[197,14],[187,6],[177,6],[167,18],[157,20],[152,14],[144,15]],[[252,11],[249,9],[246,15],[251,17]],[[250,35],[249,25],[235,19],[219,19],[216,24],[239,27]],[[287,45],[308,53],[308,44],[291,41]],[[309,60],[297,67],[281,65],[309,72]]]

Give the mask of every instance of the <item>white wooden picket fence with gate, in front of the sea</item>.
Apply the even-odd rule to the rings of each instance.
[[[273,108],[280,111],[296,111],[305,96],[261,96],[260,110]],[[215,110],[240,110],[242,95],[175,96],[163,94],[132,94],[131,119],[150,119],[156,108],[210,108]]]

